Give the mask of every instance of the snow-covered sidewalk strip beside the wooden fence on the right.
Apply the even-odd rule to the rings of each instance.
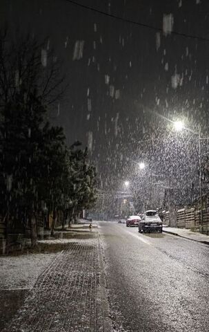
[[[206,234],[201,234],[198,232],[192,232],[191,230],[163,227],[163,232],[177,235],[178,237],[183,237],[184,239],[190,239],[193,241],[198,241],[209,245],[209,237]]]

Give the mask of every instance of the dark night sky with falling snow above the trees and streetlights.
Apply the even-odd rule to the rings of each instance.
[[[173,30],[209,38],[207,0],[77,2],[159,28],[163,15],[172,13]],[[92,133],[92,158],[103,174],[123,178],[130,163],[126,158],[144,155],[146,147],[137,142],[166,126],[157,113],[170,119],[183,116],[190,127],[208,121],[209,42],[161,33],[157,50],[157,30],[67,0],[1,0],[4,21],[38,38],[49,37],[70,83],[53,121],[63,125],[69,143],[78,139],[86,145]],[[77,41],[84,41],[83,57],[73,60]],[[177,89],[171,84],[175,73],[181,79]],[[113,89],[119,92],[112,97]]]

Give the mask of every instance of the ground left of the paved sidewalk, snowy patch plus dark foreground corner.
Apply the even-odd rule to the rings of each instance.
[[[54,257],[55,253],[0,256],[0,331],[23,305],[39,275]]]

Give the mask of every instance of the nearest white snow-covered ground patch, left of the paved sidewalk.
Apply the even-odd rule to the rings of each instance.
[[[0,257],[0,290],[31,289],[56,254]]]

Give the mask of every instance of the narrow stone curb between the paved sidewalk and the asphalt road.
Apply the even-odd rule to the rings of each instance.
[[[103,256],[101,254],[101,238],[98,232],[98,242],[99,242],[99,267],[101,270],[100,282],[101,282],[101,306],[103,311],[103,332],[112,332],[112,320],[110,319],[110,305],[108,302],[108,290],[106,283],[106,273],[103,262]]]

